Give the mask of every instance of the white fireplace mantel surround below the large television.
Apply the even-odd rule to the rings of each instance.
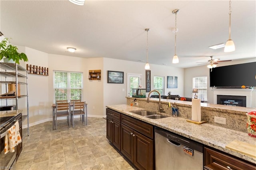
[[[246,96],[246,107],[256,107],[255,89],[212,89],[213,104],[217,104],[217,95]]]

